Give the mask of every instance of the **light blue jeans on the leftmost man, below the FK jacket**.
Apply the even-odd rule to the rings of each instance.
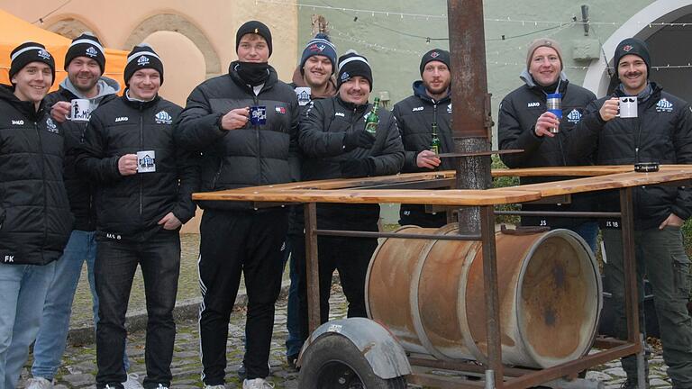
[[[0,264],[0,389],[14,389],[41,325],[55,263]]]

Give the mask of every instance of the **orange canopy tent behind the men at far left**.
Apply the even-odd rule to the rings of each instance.
[[[10,84],[10,53],[25,41],[42,43],[55,58],[55,83],[50,90],[58,89],[60,81],[68,76],[64,70],[64,60],[71,40],[57,33],[43,30],[4,10],[0,10],[0,84]],[[124,86],[123,71],[126,61],[126,51],[105,49],[104,76],[114,78],[121,86]]]

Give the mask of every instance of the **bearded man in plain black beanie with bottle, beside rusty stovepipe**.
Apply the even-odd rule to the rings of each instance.
[[[451,158],[441,159],[432,151],[432,138],[440,140],[439,153],[452,152],[451,140],[451,71],[450,52],[432,49],[421,59],[421,78],[414,82],[414,95],[394,104],[392,113],[404,143],[404,173],[451,170]],[[432,128],[437,129],[432,133]],[[421,227],[442,227],[445,213],[426,213],[421,204],[401,204],[399,224]]]

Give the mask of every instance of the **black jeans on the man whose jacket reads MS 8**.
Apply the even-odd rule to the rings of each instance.
[[[178,293],[180,238],[177,231],[159,231],[145,242],[98,240],[94,276],[100,321],[96,328],[96,387],[122,388],[127,380],[123,366],[125,313],[137,266],[144,277],[147,302],[147,335],[144,359],[146,389],[170,386],[170,362],[176,339],[173,308]]]

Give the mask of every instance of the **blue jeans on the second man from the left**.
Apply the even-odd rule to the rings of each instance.
[[[72,231],[68,245],[55,266],[55,276],[50,283],[43,305],[41,330],[33,345],[32,375],[52,380],[60,366],[68,340],[69,317],[82,266],[87,262],[91,301],[94,309],[94,326],[98,323],[98,296],[94,283],[96,261],[96,232]],[[125,370],[130,366],[127,354],[123,354]]]

